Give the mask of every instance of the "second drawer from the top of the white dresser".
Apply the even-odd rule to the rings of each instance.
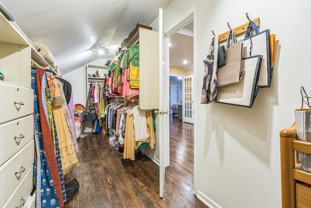
[[[33,115],[0,124],[0,166],[34,137]],[[20,137],[20,138],[18,138]]]

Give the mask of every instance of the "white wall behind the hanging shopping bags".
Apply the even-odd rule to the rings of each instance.
[[[280,208],[279,132],[294,122],[299,86],[311,94],[308,34],[311,1],[173,0],[164,10],[166,30],[197,3],[197,69],[194,69],[194,136],[198,196],[209,207]],[[211,31],[260,18],[260,30],[276,34],[271,88],[260,89],[253,108],[199,104]],[[157,29],[157,20],[151,24]],[[195,49],[195,47],[194,47]]]

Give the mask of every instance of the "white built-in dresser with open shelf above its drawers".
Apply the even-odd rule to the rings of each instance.
[[[0,13],[0,207],[23,208],[34,188],[34,92],[28,41]],[[27,208],[35,207],[35,194]]]

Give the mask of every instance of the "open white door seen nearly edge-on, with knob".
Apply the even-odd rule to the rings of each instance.
[[[159,9],[159,146],[160,146],[160,197],[163,198],[165,168],[170,165],[170,117],[169,117],[169,39],[164,37],[163,9]]]

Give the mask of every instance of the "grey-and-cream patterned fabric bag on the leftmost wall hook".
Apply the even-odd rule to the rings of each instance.
[[[217,95],[217,54],[214,56],[215,45],[218,46],[218,37],[213,37],[209,46],[209,52],[204,62],[204,77],[201,95],[201,104],[216,101]],[[216,61],[215,61],[216,60]]]

